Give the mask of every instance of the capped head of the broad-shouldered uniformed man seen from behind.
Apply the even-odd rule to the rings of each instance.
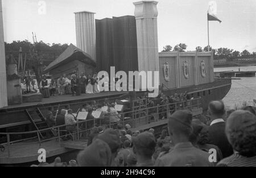
[[[189,142],[192,133],[192,113],[189,110],[177,110],[168,119],[168,130],[174,144]]]

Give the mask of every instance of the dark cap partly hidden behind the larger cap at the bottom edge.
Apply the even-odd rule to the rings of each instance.
[[[104,133],[97,135],[96,138],[108,143],[112,153],[116,152],[121,146],[121,139],[118,131],[115,131],[114,129],[106,129]]]

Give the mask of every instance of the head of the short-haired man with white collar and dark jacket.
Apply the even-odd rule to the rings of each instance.
[[[214,119],[223,118],[225,114],[225,106],[222,101],[212,101],[209,103],[208,112],[210,115],[210,119],[213,121]]]

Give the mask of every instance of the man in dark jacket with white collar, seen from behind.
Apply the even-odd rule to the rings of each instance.
[[[209,144],[220,148],[223,158],[233,154],[233,148],[229,144],[225,134],[225,121],[222,119],[225,114],[225,106],[222,101],[212,101],[208,107],[210,115]]]

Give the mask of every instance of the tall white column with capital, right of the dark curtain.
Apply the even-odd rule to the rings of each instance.
[[[156,1],[134,2],[139,71],[159,71]]]

